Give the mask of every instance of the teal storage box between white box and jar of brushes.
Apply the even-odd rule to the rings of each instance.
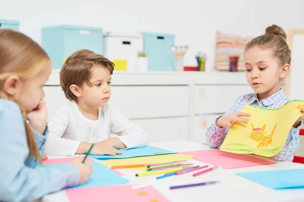
[[[148,54],[148,71],[174,71],[175,35],[143,33],[143,51]]]

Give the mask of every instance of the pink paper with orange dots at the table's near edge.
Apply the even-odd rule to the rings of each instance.
[[[165,196],[153,186],[132,189],[131,185],[97,186],[86,188],[74,188],[65,190],[70,202],[169,202]]]

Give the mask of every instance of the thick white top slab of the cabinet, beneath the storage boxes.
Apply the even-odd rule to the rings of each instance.
[[[46,85],[60,85],[53,70]],[[112,85],[247,84],[244,72],[124,72],[114,71]]]

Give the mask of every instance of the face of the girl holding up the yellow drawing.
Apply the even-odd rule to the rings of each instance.
[[[252,89],[258,93],[259,100],[280,90],[280,81],[289,72],[289,65],[287,66],[278,63],[272,49],[252,47],[246,51],[246,79]]]

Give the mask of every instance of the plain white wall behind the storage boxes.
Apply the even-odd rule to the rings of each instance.
[[[0,19],[20,21],[20,31],[41,43],[41,27],[72,24],[104,31],[175,33],[188,44],[185,65],[196,66],[197,51],[207,53],[213,70],[216,30],[256,36],[271,24],[304,28],[304,1],[296,0],[0,0]]]

